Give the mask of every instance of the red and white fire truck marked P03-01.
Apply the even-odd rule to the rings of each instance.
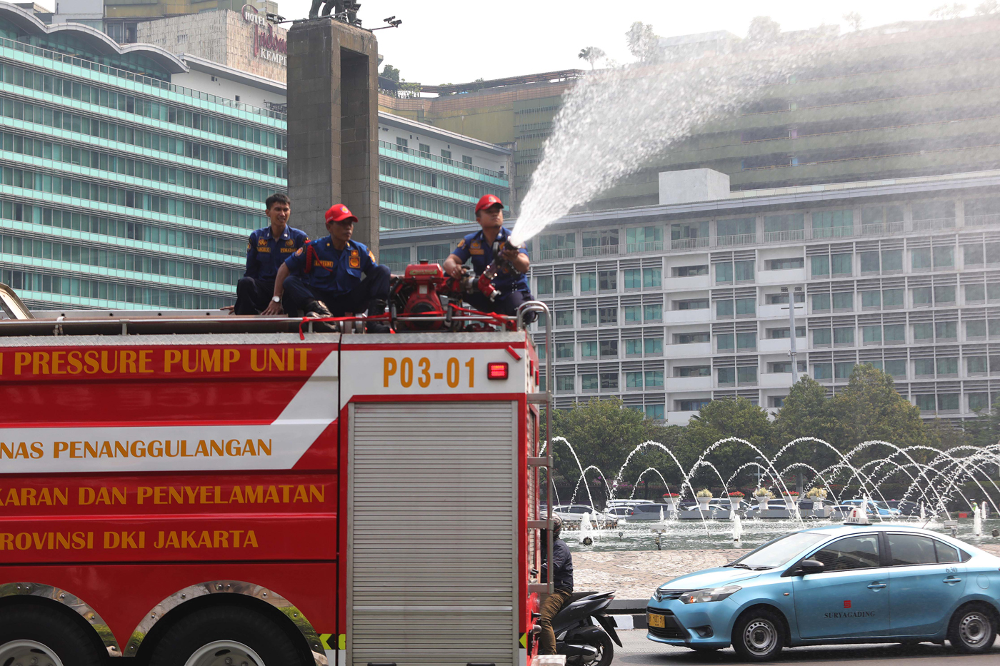
[[[531,663],[548,394],[520,317],[0,304],[0,664]]]

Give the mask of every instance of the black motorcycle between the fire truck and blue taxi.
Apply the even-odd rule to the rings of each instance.
[[[614,660],[615,646],[611,641],[622,646],[615,632],[618,623],[606,612],[614,598],[614,592],[574,592],[553,618],[556,654],[566,655],[567,665],[609,666]]]

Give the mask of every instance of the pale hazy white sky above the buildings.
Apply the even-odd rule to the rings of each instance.
[[[968,0],[966,15],[982,0]],[[304,18],[310,0],[278,0],[288,19]],[[847,30],[844,14],[857,12],[863,28],[926,20],[943,0],[361,0],[364,27],[396,16],[399,28],[379,30],[383,63],[407,81],[436,85],[497,79],[560,69],[586,69],[577,57],[597,46],[618,62],[633,58],[625,32],[635,21],[663,37],[728,30],[740,37],[755,16],[770,16],[782,30],[822,23]],[[953,3],[947,3],[953,4]]]

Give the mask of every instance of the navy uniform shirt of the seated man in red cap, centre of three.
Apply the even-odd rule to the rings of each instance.
[[[309,255],[312,258],[307,261]],[[314,289],[331,294],[346,294],[361,282],[361,274],[371,275],[375,257],[364,244],[347,241],[343,250],[333,246],[327,236],[306,243],[285,260],[292,275],[301,275]]]

